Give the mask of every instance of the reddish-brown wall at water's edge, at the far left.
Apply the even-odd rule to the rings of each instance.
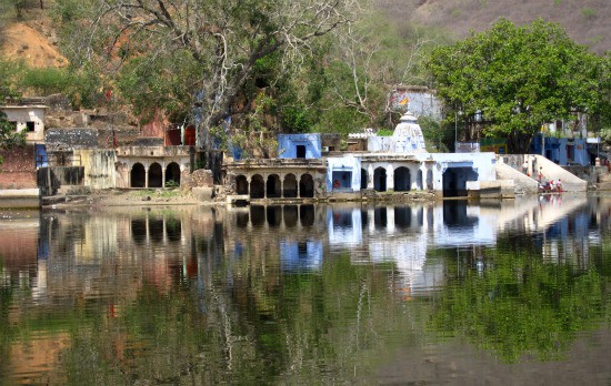
[[[4,159],[0,165],[0,189],[37,187],[33,145],[0,150],[0,155]]]

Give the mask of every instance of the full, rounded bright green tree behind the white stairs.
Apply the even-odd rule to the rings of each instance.
[[[520,28],[501,19],[434,50],[429,69],[449,116],[462,111],[469,126],[479,125],[468,139],[508,138],[513,152],[525,152],[544,123],[605,109],[602,58],[541,19]]]

